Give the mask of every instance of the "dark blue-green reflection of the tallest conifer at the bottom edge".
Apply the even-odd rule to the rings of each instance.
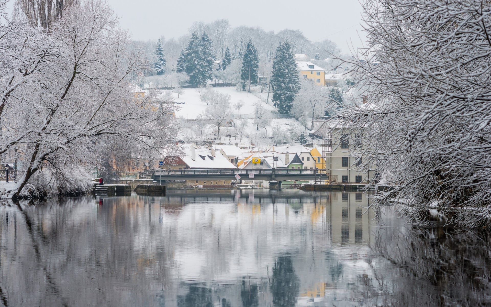
[[[295,306],[299,288],[300,282],[295,274],[291,255],[278,257],[273,265],[273,279],[270,285],[274,306]]]

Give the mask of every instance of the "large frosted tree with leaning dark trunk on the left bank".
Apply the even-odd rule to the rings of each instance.
[[[64,10],[50,32],[8,20],[0,31],[0,131],[8,131],[0,154],[23,161],[1,197],[19,195],[41,168],[56,176],[100,166],[97,153],[113,140],[141,150],[173,147],[173,106],[156,107],[152,94],[128,86],[130,74],[151,65],[105,3]]]

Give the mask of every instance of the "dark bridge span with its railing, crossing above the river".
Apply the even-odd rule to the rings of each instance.
[[[155,171],[153,180],[203,180],[208,178],[235,180],[239,174],[241,180],[248,180],[254,174],[254,180],[286,181],[286,180],[327,180],[326,169],[291,169],[291,168],[259,168],[259,169],[169,169]],[[252,177],[250,178],[252,179]]]

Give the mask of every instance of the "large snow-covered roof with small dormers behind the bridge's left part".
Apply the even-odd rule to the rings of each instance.
[[[217,151],[213,156],[212,150],[209,149],[195,149],[194,160],[192,159],[192,148],[185,149],[181,159],[191,168],[237,168]]]

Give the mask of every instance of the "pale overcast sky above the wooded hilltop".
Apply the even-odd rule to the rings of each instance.
[[[11,0],[10,2],[13,2]],[[228,19],[232,27],[259,26],[278,32],[285,28],[300,29],[311,41],[325,38],[348,53],[348,44],[361,47],[365,34],[360,25],[358,0],[108,0],[137,40],[178,37],[188,32],[195,21],[212,22]]]

